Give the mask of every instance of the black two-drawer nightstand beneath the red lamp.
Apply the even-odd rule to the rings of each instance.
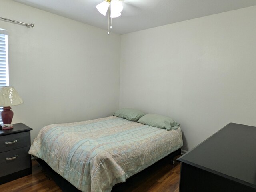
[[[31,174],[30,131],[23,123],[0,130],[0,184]]]

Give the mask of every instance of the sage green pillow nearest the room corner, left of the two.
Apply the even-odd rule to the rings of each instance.
[[[137,109],[122,108],[114,113],[114,116],[127,119],[129,121],[138,121],[145,113]]]

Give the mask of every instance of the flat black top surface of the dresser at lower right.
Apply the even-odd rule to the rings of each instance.
[[[256,188],[256,127],[229,123],[178,161]]]

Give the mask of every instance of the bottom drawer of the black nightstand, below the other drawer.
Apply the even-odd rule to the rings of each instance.
[[[0,153],[0,177],[30,168],[30,146]]]

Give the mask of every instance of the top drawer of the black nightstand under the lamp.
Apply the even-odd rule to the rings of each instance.
[[[30,132],[10,134],[0,137],[0,152],[30,146]]]

